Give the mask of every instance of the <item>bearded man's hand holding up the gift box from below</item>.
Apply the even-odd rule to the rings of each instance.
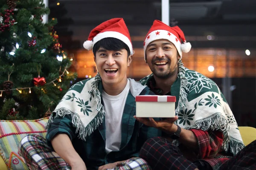
[[[134,118],[137,121],[143,123],[144,125],[155,127],[169,134],[175,133],[177,131],[177,126],[173,126],[173,124],[178,119],[178,116],[175,116],[173,118],[165,118],[164,120],[160,121],[155,121],[153,118],[144,118],[136,116],[134,116]]]

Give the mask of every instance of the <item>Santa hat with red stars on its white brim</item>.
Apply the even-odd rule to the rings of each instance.
[[[165,39],[172,42],[177,48],[180,57],[182,57],[182,52],[188,53],[191,49],[191,44],[186,42],[183,31],[178,26],[170,27],[165,23],[154,20],[153,25],[148,31],[147,36],[144,40],[144,59],[146,61],[146,49],[148,44],[154,40]]]

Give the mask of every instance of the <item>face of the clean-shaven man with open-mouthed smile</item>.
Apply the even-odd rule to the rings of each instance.
[[[128,56],[125,49],[119,51],[109,51],[104,48],[99,48],[96,51],[94,61],[96,62],[97,70],[102,78],[103,85],[116,85],[126,82],[126,71],[130,65],[133,56]]]

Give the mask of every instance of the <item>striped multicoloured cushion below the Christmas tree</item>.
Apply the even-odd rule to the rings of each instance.
[[[23,158],[18,154],[18,145],[29,133],[46,136],[47,118],[25,121],[0,120],[0,153],[10,170],[28,170]]]

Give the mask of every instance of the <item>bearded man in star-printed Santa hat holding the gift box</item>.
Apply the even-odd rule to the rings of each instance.
[[[255,168],[256,141],[244,148],[236,120],[218,86],[183,66],[182,52],[190,48],[178,26],[159,20],[145,37],[145,62],[153,74],[141,83],[157,95],[176,96],[176,116],[161,121],[134,116],[164,134],[148,139],[140,157],[153,170]]]

